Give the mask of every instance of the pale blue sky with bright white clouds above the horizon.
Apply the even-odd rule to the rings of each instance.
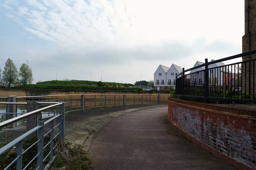
[[[33,83],[149,81],[240,54],[243,35],[242,0],[0,0],[0,68],[28,63]]]

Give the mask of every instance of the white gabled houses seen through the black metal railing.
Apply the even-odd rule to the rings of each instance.
[[[211,60],[215,61],[215,60]],[[197,61],[194,65],[194,67],[204,64],[204,62],[199,62]],[[218,68],[216,68],[218,67]],[[209,85],[220,85],[220,86],[225,86],[228,85],[228,82],[232,79],[231,76],[231,71],[223,62],[217,62],[211,65],[208,65],[209,69]],[[190,73],[195,73],[197,72],[196,75],[190,74],[189,77],[186,77],[187,81],[191,83],[196,83],[196,84],[203,84],[204,83],[204,69],[205,67],[200,67],[197,69],[194,69],[190,71]],[[234,78],[234,77],[233,77]]]

